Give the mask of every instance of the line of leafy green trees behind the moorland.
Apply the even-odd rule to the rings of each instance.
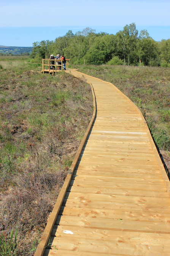
[[[64,54],[74,64],[111,64],[170,67],[170,39],[153,40],[147,30],[138,33],[135,23],[115,35],[96,33],[87,27],[75,34],[69,30],[54,41],[33,43],[31,58],[49,58]]]

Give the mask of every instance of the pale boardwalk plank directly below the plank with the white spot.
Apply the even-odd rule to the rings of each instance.
[[[121,241],[121,240],[120,240]],[[124,254],[124,255],[145,255],[145,256],[155,256],[156,254],[160,253],[160,255],[170,255],[170,248],[169,245],[131,245],[130,243],[123,243],[123,242],[105,242],[105,241],[91,241],[87,239],[81,238],[81,241],[74,238],[67,238],[65,240],[63,237],[61,238],[53,238],[52,245],[54,245],[57,249],[61,248],[61,250],[70,250],[70,251],[85,251],[85,252],[98,252],[98,253],[115,253],[115,254]],[[53,250],[54,249],[53,247]],[[162,254],[161,254],[162,253]],[[164,254],[163,254],[164,253]],[[100,254],[99,254],[100,255]]]

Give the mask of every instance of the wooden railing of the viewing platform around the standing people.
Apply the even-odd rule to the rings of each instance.
[[[68,68],[68,65],[70,64],[68,61],[70,61],[70,59],[65,59],[66,60],[66,63],[65,63],[65,66],[66,68]],[[54,64],[51,64],[51,61],[54,61]],[[61,64],[58,64],[57,61],[60,61]],[[60,60],[60,59],[42,59],[42,70],[41,72],[49,72],[49,73],[54,73],[56,71],[59,71],[59,70],[63,70],[63,60]],[[50,69],[50,67],[52,67],[52,69]],[[60,67],[61,69],[57,69],[57,67]]]

